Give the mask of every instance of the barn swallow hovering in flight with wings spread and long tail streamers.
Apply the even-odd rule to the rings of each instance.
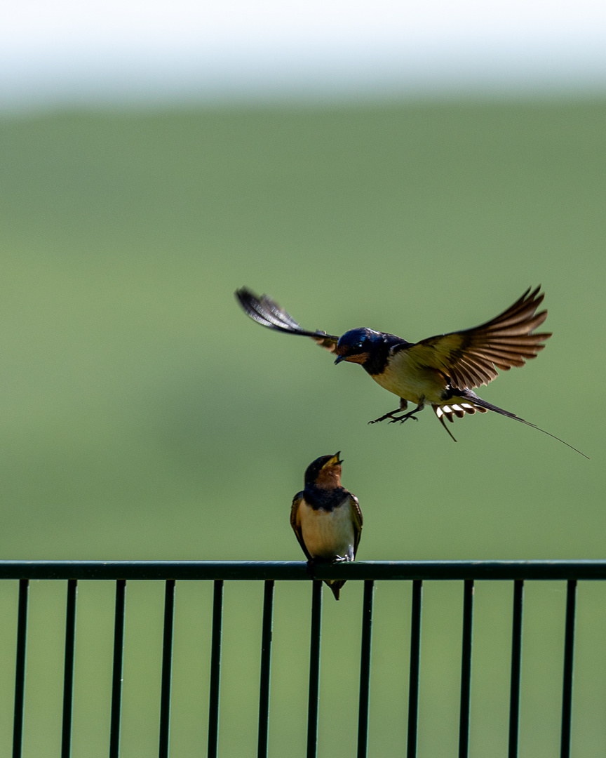
[[[513,305],[485,324],[438,334],[417,343],[366,327],[351,329],[341,337],[320,330],[307,331],[267,295],[259,298],[245,287],[235,294],[254,321],[277,331],[311,337],[321,347],[336,353],[335,363],[359,363],[377,384],[400,398],[397,409],[369,421],[370,424],[386,419],[390,423],[404,423],[409,418],[418,421],[415,414],[430,405],[454,440],[445,418],[452,422],[454,416],[463,418],[466,413],[494,411],[539,429],[576,450],[554,434],[493,406],[473,392],[473,387],[495,379],[497,368],[508,371],[512,366],[523,366],[545,347],[543,343],[551,332],[533,334],[547,318],[547,311],[536,312],[545,296],[539,290],[540,285],[535,290],[529,288]],[[406,412],[408,402],[416,407]]]

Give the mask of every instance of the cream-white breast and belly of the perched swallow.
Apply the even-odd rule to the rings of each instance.
[[[330,511],[311,508],[302,500],[298,517],[301,536],[312,558],[354,559],[355,534],[349,497]]]

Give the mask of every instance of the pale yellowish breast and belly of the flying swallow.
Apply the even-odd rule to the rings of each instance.
[[[408,350],[398,350],[389,357],[381,374],[370,375],[384,389],[416,405],[421,398],[425,402],[443,402],[445,377],[435,368],[418,365]]]

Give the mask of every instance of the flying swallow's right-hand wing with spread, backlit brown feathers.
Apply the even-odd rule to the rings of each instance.
[[[547,311],[536,313],[544,293],[526,290],[501,315],[473,329],[428,337],[407,349],[420,367],[436,368],[446,374],[453,387],[479,387],[498,376],[496,368],[508,371],[523,366],[542,350],[551,332],[531,334],[547,318]]]

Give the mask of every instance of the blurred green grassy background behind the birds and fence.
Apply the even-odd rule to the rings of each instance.
[[[3,559],[292,560],[292,496],[342,451],[358,558],[604,557],[606,102],[68,111],[0,121]],[[554,332],[454,444],[305,327],[414,341],[542,283]],[[305,754],[311,587],[276,589],[270,750]],[[17,588],[3,584],[0,753]],[[74,755],[108,749],[113,587],[80,587]],[[25,754],[58,754],[64,585],[32,588]],[[520,755],[558,752],[565,589],[527,591]],[[512,588],[476,593],[472,754],[507,735]],[[127,598],[123,755],[155,754],[162,588]],[[226,587],[221,755],[256,750],[262,587]],[[361,587],[325,594],[320,755],[355,749]],[[172,756],[204,754],[211,587],[177,587]],[[370,755],[402,754],[410,587],[376,592]],[[426,588],[420,756],[454,755],[462,587]],[[579,590],[575,756],[603,754],[604,590]],[[601,702],[601,710],[596,703]]]

